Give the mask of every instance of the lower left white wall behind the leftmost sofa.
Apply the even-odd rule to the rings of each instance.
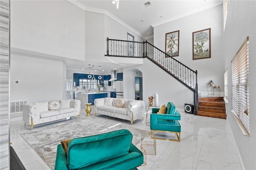
[[[10,101],[27,99],[31,102],[64,99],[65,63],[17,55],[10,55]],[[20,83],[15,83],[19,80]]]

